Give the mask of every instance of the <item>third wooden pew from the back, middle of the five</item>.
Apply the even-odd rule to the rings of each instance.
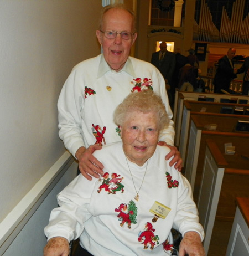
[[[214,138],[214,140],[220,140],[220,136],[225,136],[228,140],[232,139],[232,137],[248,137],[249,132],[242,133],[234,129],[239,120],[249,121],[249,116],[195,113],[191,114],[190,118],[191,125],[184,175],[188,178],[194,192],[194,198],[196,199],[199,193],[200,177],[203,169],[205,140],[210,139],[210,137]],[[205,126],[209,124],[216,124],[216,130],[210,131],[206,129]]]

